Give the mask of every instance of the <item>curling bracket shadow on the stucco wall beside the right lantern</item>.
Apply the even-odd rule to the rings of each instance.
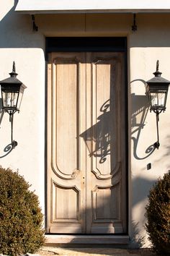
[[[144,80],[133,80],[132,82],[143,82],[145,85],[146,82]],[[131,83],[132,83],[131,82]],[[152,145],[148,145],[145,150],[145,156],[140,157],[138,155],[138,141],[140,139],[140,135],[143,127],[145,126],[146,116],[148,114],[148,98],[146,95],[135,95],[135,93],[131,94],[131,103],[132,103],[132,116],[131,116],[131,139],[133,140],[133,155],[138,160],[143,160],[148,158],[154,150],[156,150],[154,143]]]

